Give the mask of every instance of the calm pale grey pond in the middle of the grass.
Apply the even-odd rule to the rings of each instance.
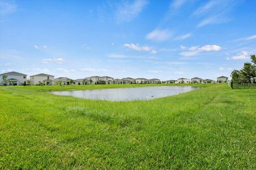
[[[78,98],[108,101],[152,100],[155,98],[178,95],[183,92],[199,89],[191,86],[154,86],[137,88],[54,91],[54,95],[73,96]]]

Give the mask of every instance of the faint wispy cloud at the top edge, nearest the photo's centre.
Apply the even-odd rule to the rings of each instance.
[[[129,2],[129,1],[128,1]],[[129,22],[138,16],[143,8],[148,4],[148,1],[135,0],[134,3],[128,4],[127,2],[118,6],[116,12],[117,22]]]

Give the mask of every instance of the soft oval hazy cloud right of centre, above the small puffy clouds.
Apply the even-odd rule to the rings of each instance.
[[[163,42],[170,39],[171,37],[172,37],[172,33],[167,29],[165,30],[155,29],[146,35],[146,39],[154,40],[156,42]]]

